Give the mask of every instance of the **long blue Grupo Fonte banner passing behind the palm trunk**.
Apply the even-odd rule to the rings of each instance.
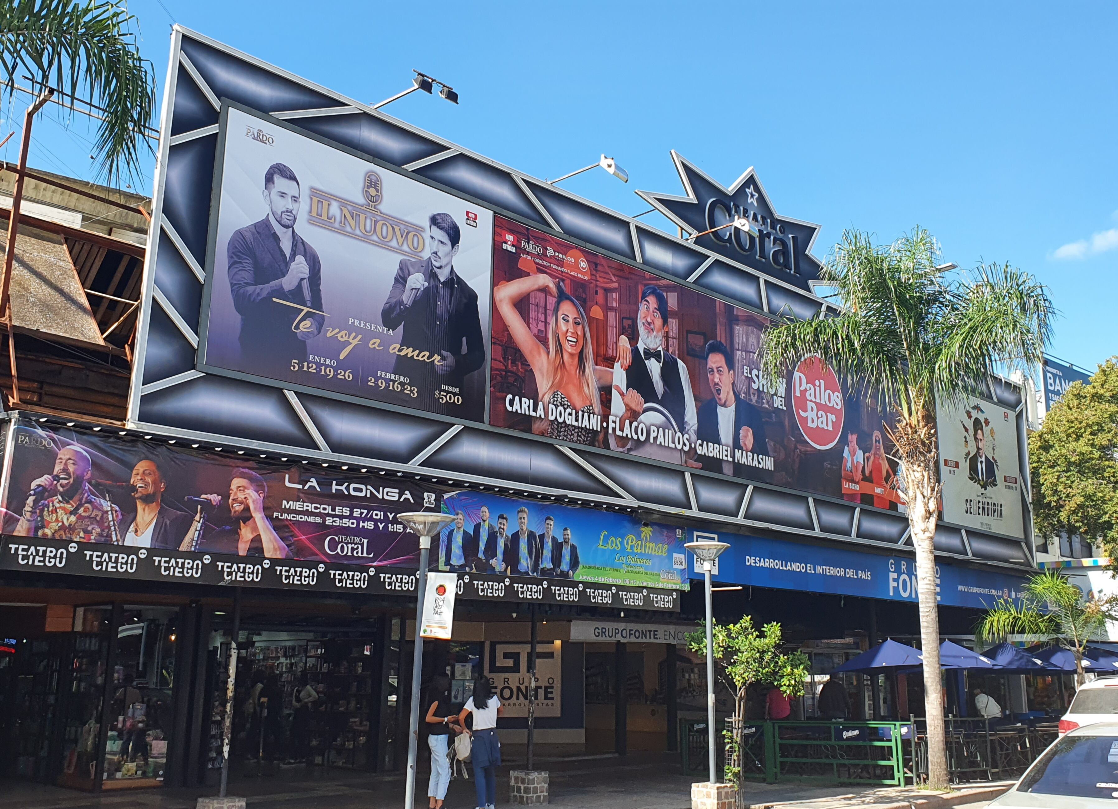
[[[718,572],[712,577],[723,584],[917,601],[916,561],[909,555],[729,533],[691,531],[691,534],[693,539],[717,536],[730,543],[718,558]],[[697,567],[694,556],[689,563],[691,578],[701,578],[702,569]],[[986,608],[998,598],[1017,599],[1025,583],[1023,577],[1012,573],[944,562],[936,565],[936,579],[939,602],[949,607]]]

